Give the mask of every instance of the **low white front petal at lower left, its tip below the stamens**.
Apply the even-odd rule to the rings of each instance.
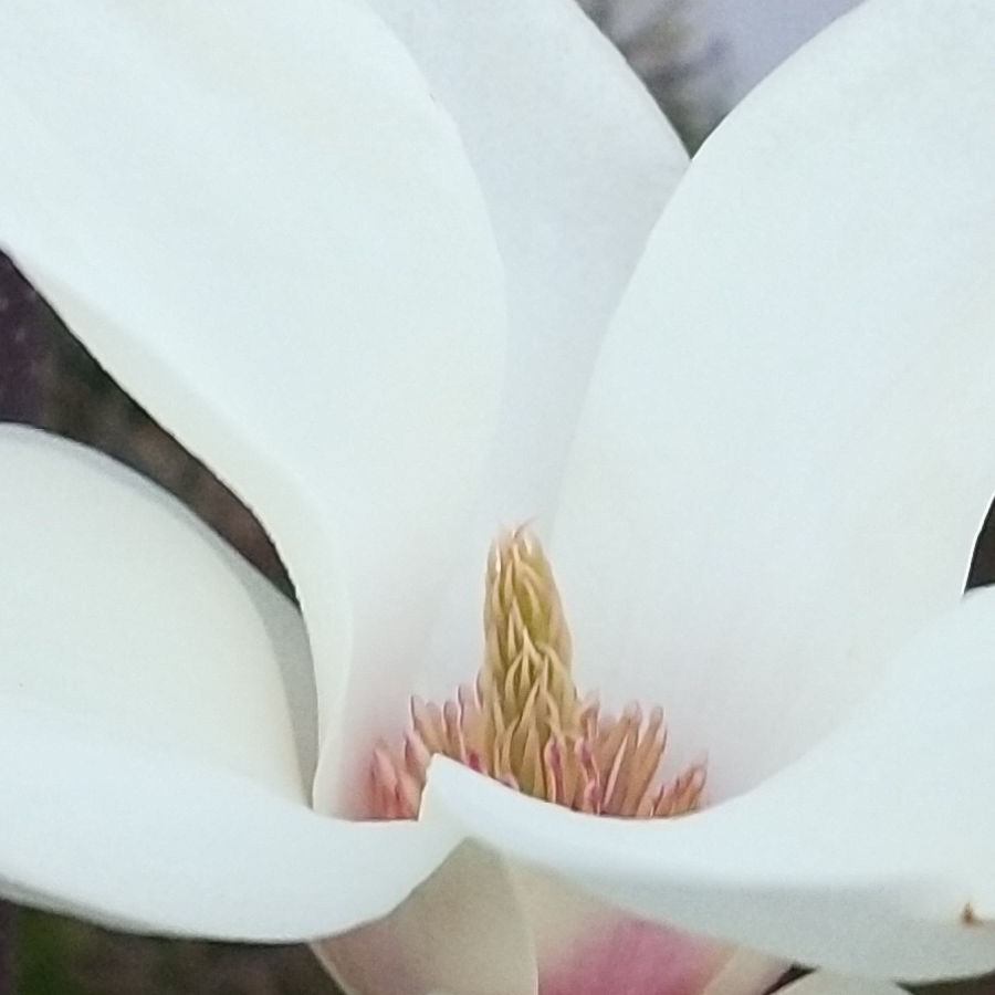
[[[0,694],[2,891],[115,929],[282,942],[386,914],[452,844],[328,819],[76,712]]]

